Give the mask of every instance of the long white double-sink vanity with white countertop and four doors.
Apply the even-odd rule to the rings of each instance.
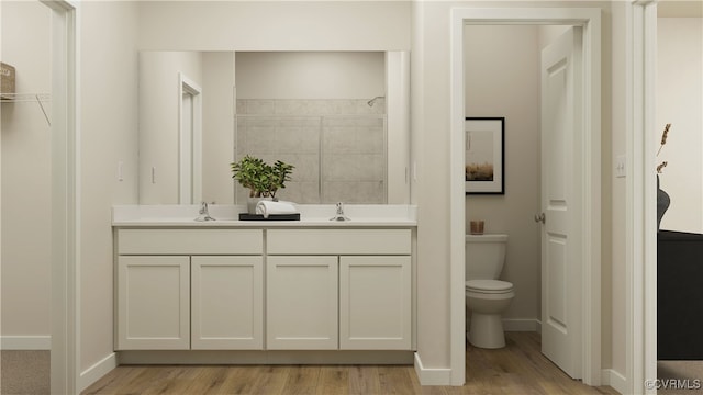
[[[121,363],[412,363],[416,208],[113,207]]]

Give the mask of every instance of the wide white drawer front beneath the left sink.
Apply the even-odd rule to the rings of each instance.
[[[119,229],[119,255],[259,255],[261,229]]]

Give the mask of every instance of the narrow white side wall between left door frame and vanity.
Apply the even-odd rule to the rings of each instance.
[[[136,7],[86,1],[80,11],[79,390],[93,365],[114,362],[111,207],[137,203]]]

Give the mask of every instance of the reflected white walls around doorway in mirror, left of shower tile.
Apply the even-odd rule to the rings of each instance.
[[[181,135],[183,80],[200,88],[199,139]],[[138,94],[140,203],[190,204],[187,185],[193,203],[232,203],[234,53],[142,52]]]

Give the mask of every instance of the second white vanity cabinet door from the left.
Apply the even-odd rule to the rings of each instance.
[[[264,348],[260,256],[191,258],[191,348]]]

